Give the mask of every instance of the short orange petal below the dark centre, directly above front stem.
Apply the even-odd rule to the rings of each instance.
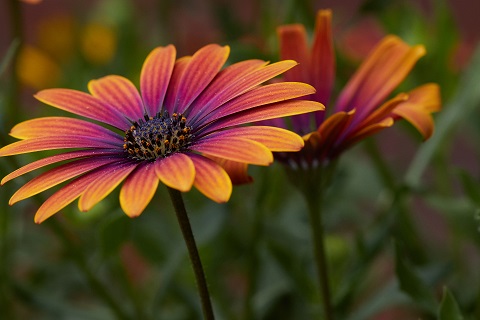
[[[155,161],[155,172],[167,186],[182,192],[192,188],[195,179],[195,167],[192,160],[182,153],[175,153]]]

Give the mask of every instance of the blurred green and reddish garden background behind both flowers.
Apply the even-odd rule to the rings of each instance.
[[[228,63],[278,60],[276,28],[333,9],[339,91],[385,35],[427,55],[398,91],[441,86],[428,142],[400,122],[342,156],[324,204],[339,319],[480,319],[480,2],[476,0],[43,0],[0,2],[0,146],[16,123],[62,114],[33,98],[119,74],[138,85],[147,54],[228,44]],[[0,175],[41,154],[0,158]],[[305,203],[279,164],[216,204],[185,194],[218,319],[317,319]],[[0,188],[0,319],[200,319],[166,190],[127,218],[118,190],[42,225],[46,191],[10,207],[36,173]],[[452,300],[445,297],[448,288]],[[461,318],[459,318],[461,319]]]

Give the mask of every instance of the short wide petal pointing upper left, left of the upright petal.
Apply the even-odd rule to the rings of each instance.
[[[92,96],[119,110],[128,119],[135,121],[145,113],[137,88],[127,78],[110,75],[88,83]]]

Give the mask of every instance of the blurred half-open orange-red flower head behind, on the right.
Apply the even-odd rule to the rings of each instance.
[[[330,10],[318,12],[310,50],[303,25],[278,28],[281,58],[299,62],[298,68],[286,72],[284,79],[313,85],[316,93],[311,98],[325,104],[327,111],[331,109],[328,115],[316,112],[292,117],[294,131],[303,135],[305,147],[299,153],[279,154],[278,158],[294,166],[329,163],[345,149],[392,126],[400,118],[409,121],[428,139],[434,130],[431,113],[440,110],[438,85],[425,84],[385,102],[425,54],[423,46],[409,46],[393,35],[377,44],[332,107],[328,107],[335,82],[331,15]],[[286,126],[282,119],[270,123]]]

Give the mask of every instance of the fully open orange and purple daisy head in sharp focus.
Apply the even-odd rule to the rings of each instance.
[[[210,156],[268,165],[272,151],[298,151],[302,139],[281,128],[243,125],[323,108],[318,102],[296,99],[312,94],[310,85],[260,86],[295,66],[294,61],[247,60],[221,70],[229,51],[228,46],[212,44],[175,60],[174,46],[158,47],[143,65],[140,94],[132,82],[116,75],[90,81],[90,94],[71,89],[38,92],[38,100],[106,126],[69,117],[44,117],[14,126],[10,134],[21,141],[1,148],[0,156],[74,150],[5,176],[2,185],[32,170],[68,161],[27,182],[9,203],[70,179],[40,206],[35,222],[77,198],[80,210],[87,211],[123,180],[120,204],[130,217],[142,213],[159,181],[182,192],[193,185],[214,201],[228,201],[230,178]]]

